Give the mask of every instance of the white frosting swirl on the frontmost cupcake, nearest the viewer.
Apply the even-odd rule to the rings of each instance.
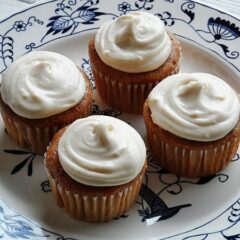
[[[59,141],[58,156],[75,181],[89,186],[116,186],[140,173],[146,148],[127,123],[113,117],[90,116],[66,129]]]

